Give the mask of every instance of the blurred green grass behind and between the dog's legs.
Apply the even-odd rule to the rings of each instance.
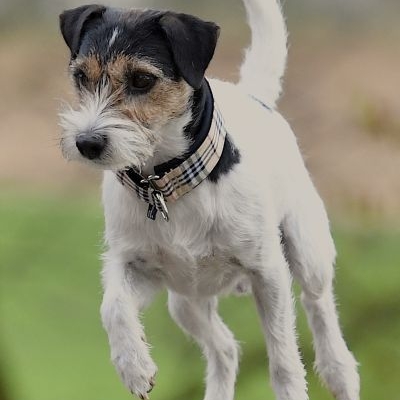
[[[98,201],[6,192],[0,221],[1,368],[11,400],[130,399],[109,362],[98,312]],[[339,224],[334,234],[341,322],[361,363],[362,398],[399,400],[400,233]],[[144,317],[159,366],[151,397],[200,400],[204,361],[170,320],[165,303],[161,294]],[[310,397],[331,399],[312,372],[311,337],[298,308]],[[236,398],[273,399],[251,298],[223,299],[220,309],[243,349]]]

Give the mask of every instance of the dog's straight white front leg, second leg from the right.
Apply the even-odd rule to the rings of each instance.
[[[278,235],[269,238],[252,269],[252,287],[268,347],[277,400],[307,400],[307,384],[296,342],[291,278]]]

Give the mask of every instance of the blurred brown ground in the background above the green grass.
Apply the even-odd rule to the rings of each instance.
[[[399,213],[398,43],[323,32],[293,37],[281,110],[323,197],[334,207]],[[236,77],[240,52],[222,52],[230,47],[222,43],[213,75]],[[52,191],[97,185],[97,172],[67,164],[57,148],[57,109],[71,93],[67,59],[55,33],[20,32],[0,41],[4,185]]]

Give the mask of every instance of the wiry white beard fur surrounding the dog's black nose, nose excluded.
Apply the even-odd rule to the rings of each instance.
[[[118,170],[129,166],[141,169],[152,157],[159,135],[125,117],[115,106],[115,99],[116,94],[107,85],[100,85],[94,93],[82,91],[76,109],[65,106],[59,115],[64,158],[101,169]],[[76,138],[85,133],[97,133],[106,138],[106,148],[99,158],[88,160],[79,152]]]

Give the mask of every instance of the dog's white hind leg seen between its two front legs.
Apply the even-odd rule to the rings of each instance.
[[[201,346],[207,359],[205,400],[233,400],[238,346],[217,312],[217,299],[188,298],[169,292],[175,322]]]

